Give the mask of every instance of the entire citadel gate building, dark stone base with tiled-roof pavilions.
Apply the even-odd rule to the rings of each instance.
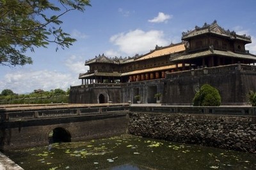
[[[222,104],[246,104],[256,90],[256,55],[245,49],[250,36],[221,28],[216,21],[182,32],[182,42],[157,46],[145,55],[87,60],[81,84],[70,88],[70,103],[191,104],[204,83],[220,91]]]

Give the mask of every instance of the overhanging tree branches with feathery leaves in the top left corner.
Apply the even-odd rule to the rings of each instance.
[[[32,64],[25,55],[34,47],[47,47],[56,43],[61,48],[76,41],[61,29],[60,17],[69,11],[84,11],[90,0],[0,0],[0,64],[16,66]],[[53,15],[56,14],[56,15]]]

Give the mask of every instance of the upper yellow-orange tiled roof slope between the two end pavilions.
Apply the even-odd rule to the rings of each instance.
[[[171,53],[182,52],[185,49],[186,49],[185,45],[184,45],[184,43],[182,43],[179,45],[169,46],[167,48],[154,50],[153,52],[148,53],[148,54],[144,55],[143,57],[140,57],[139,59],[136,59],[136,60],[145,60],[145,59],[150,59],[150,58],[154,58],[154,57],[161,57],[163,55],[168,55]],[[136,60],[134,60],[134,61],[136,61]]]

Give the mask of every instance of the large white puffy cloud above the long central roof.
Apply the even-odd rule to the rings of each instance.
[[[111,36],[110,41],[118,46],[120,53],[131,56],[136,53],[149,52],[156,45],[165,46],[170,43],[164,39],[163,31],[152,30],[145,32],[140,29],[115,34]]]

